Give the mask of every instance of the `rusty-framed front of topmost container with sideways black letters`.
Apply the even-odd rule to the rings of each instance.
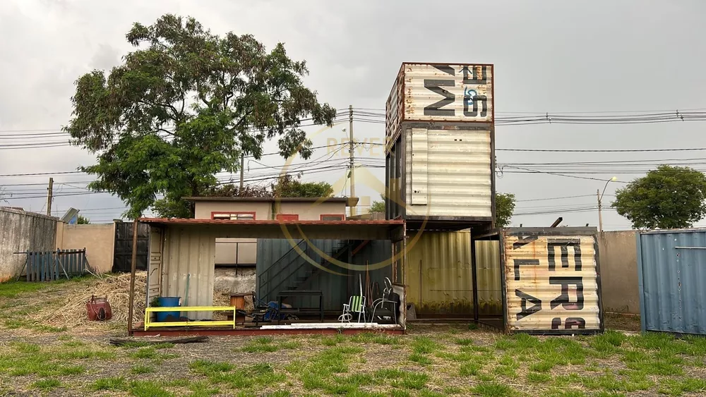
[[[493,121],[492,66],[402,67],[405,121]]]

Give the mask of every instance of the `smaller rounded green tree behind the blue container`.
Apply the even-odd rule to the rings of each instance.
[[[662,165],[616,190],[611,207],[633,228],[688,228],[706,216],[705,199],[703,173]]]

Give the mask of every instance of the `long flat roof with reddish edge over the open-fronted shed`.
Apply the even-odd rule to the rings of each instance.
[[[229,238],[293,238],[323,240],[401,240],[405,221],[279,221],[140,218],[140,222],[167,228],[202,228]]]

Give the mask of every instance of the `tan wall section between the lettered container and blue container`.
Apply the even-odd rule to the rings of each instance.
[[[603,308],[606,312],[640,314],[635,233],[606,231],[598,234]]]

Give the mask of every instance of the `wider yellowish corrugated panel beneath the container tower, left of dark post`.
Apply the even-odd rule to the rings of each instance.
[[[407,302],[418,314],[473,313],[470,244],[469,231],[425,231],[407,243]]]

